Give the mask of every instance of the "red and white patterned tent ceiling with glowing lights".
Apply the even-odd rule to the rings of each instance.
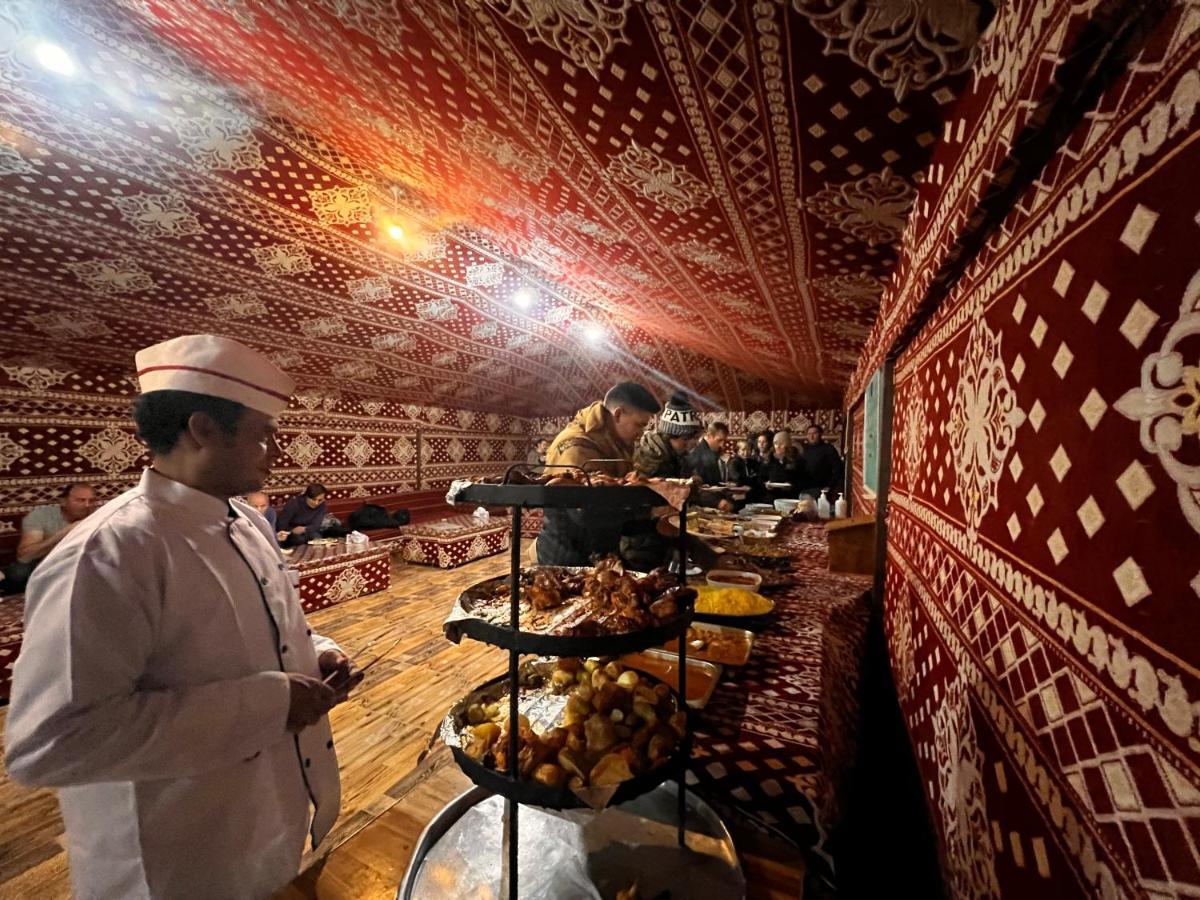
[[[835,404],[989,11],[5,4],[0,350],[204,329],[408,402]]]

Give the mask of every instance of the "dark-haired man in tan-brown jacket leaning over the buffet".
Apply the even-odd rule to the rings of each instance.
[[[547,473],[553,466],[580,466],[587,472],[625,475],[634,461],[634,448],[659,402],[646,388],[622,382],[598,401],[575,414],[554,438],[546,454]],[[595,556],[616,553],[624,517],[587,510],[547,509],[538,538],[541,565],[589,565]]]

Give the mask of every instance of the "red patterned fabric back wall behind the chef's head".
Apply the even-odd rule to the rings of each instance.
[[[137,390],[120,368],[47,358],[0,361],[0,536],[72,481],[102,499],[130,487],[148,458],[133,433]],[[454,478],[523,462],[528,420],[391,400],[301,391],[281,416],[283,450],[266,488],[319,480],[332,497],[443,488]]]

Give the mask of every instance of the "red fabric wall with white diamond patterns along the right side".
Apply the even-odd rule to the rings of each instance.
[[[884,620],[954,896],[1200,893],[1198,36],[1174,7],[896,362]]]

